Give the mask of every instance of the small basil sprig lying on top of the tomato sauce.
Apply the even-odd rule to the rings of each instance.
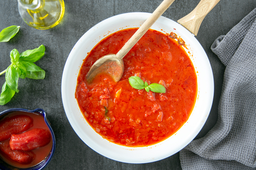
[[[138,76],[131,76],[129,77],[129,84],[138,90],[145,89],[145,91],[149,92],[157,92],[157,93],[165,93],[166,89],[163,85],[157,84],[157,83],[152,83],[148,85],[147,82],[144,83],[144,81],[138,77]]]

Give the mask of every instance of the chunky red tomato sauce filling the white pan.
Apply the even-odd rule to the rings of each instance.
[[[148,30],[123,58],[124,74],[114,82],[100,74],[91,84],[86,74],[92,64],[107,54],[116,54],[138,28],[118,31],[104,38],[89,52],[81,66],[75,98],[91,127],[105,139],[124,146],[149,146],[181,128],[193,110],[197,76],[193,64],[168,34]],[[166,93],[132,88],[128,78],[140,76],[158,83]]]

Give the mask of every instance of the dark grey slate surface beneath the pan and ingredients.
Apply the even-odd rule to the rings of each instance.
[[[62,71],[70,51],[79,38],[100,21],[122,13],[152,13],[161,0],[64,0],[65,15],[62,22],[50,30],[36,30],[27,26],[19,15],[17,0],[0,1],[0,30],[21,26],[9,42],[0,43],[0,72],[10,65],[10,51],[34,49],[43,44],[45,56],[36,64],[46,71],[45,79],[19,79],[19,93],[0,112],[10,108],[42,108],[52,124],[56,137],[56,150],[46,170],[180,170],[179,153],[166,159],[146,164],[128,164],[108,159],[90,149],[76,135],[66,118],[61,99]],[[190,13],[199,0],[176,0],[163,16],[174,21]],[[214,76],[214,99],[209,118],[196,138],[204,136],[217,121],[217,108],[221,94],[224,65],[210,50],[213,41],[226,34],[244,16],[256,7],[255,0],[221,0],[201,24],[197,40],[209,57]],[[0,76],[0,86],[4,75]],[[175,146],[174,146],[175,147]]]

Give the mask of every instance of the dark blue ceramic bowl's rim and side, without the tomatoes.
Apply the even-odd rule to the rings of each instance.
[[[27,110],[27,109],[8,109],[5,110],[3,112],[0,113],[0,119],[3,118],[4,116],[6,116],[7,114],[14,112],[14,111],[22,111],[22,112],[29,112],[29,113],[37,113],[40,114],[44,117],[45,119],[45,123],[48,126],[51,134],[52,134],[52,150],[50,151],[49,155],[45,158],[45,160],[43,160],[42,162],[40,162],[39,164],[30,167],[30,168],[17,168],[17,167],[13,167],[10,166],[9,164],[5,163],[3,160],[0,159],[0,170],[42,170],[46,167],[46,165],[50,162],[50,160],[52,159],[53,153],[55,151],[55,136],[54,133],[52,131],[52,128],[50,127],[50,124],[46,118],[46,113],[45,110],[43,109],[35,109],[35,110]]]

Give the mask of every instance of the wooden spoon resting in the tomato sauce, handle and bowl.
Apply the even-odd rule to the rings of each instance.
[[[124,62],[122,58],[124,58],[173,2],[174,0],[164,0],[116,54],[108,54],[99,58],[90,68],[87,74],[87,82],[91,83],[94,77],[102,72],[110,74],[114,81],[118,82],[124,72]]]

